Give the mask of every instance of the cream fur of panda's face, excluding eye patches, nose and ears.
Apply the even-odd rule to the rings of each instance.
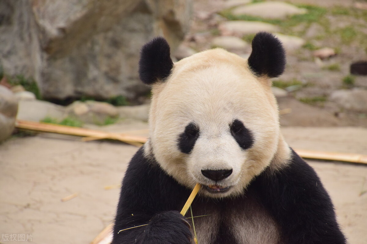
[[[201,169],[233,169],[222,187],[232,186],[224,197],[240,194],[251,179],[270,165],[287,164],[290,149],[279,129],[278,107],[270,81],[258,78],[247,60],[223,49],[207,50],[174,64],[171,76],[152,87],[150,138],[145,154],[153,153],[161,167],[179,183],[193,188],[213,184]],[[229,131],[239,119],[255,142],[241,150]],[[199,125],[200,137],[190,154],[178,149],[178,136],[186,125]]]

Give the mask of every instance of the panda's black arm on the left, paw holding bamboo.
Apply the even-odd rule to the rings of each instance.
[[[112,244],[171,243],[172,239],[177,244],[191,243],[188,222],[174,211],[188,194],[139,149],[123,179]],[[144,226],[127,229],[139,225]]]

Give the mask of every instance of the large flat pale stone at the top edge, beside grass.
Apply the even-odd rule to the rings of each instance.
[[[232,11],[235,15],[246,14],[266,19],[284,19],[289,15],[305,14],[306,12],[304,8],[276,1],[240,6]]]

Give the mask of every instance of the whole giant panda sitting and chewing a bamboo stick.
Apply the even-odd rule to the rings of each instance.
[[[280,133],[270,78],[285,64],[265,32],[248,59],[211,49],[173,63],[164,38],[143,46],[150,135],[126,170],[113,244],[194,243],[192,224],[199,244],[346,243],[319,177]],[[192,223],[179,211],[196,183]]]

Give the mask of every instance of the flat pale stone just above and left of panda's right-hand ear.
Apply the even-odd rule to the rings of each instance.
[[[219,30],[221,30],[222,35],[242,37],[243,35],[258,33],[259,31],[275,32],[279,30],[279,27],[259,21],[233,20],[221,23]]]

